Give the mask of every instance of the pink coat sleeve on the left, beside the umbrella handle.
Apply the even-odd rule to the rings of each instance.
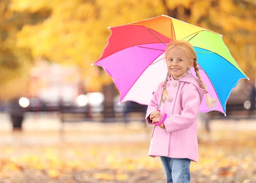
[[[152,124],[152,122],[149,119],[149,115],[154,111],[158,109],[158,97],[159,97],[159,93],[161,90],[161,84],[160,83],[157,87],[157,90],[154,92],[151,101],[149,102],[148,105],[148,109],[147,109],[147,113],[146,113],[146,121],[148,122],[148,124]]]

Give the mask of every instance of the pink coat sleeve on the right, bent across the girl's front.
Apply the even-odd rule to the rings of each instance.
[[[181,114],[174,114],[164,121],[166,132],[173,132],[189,128],[196,120],[199,106],[201,104],[200,95],[194,84],[188,84],[183,88]]]

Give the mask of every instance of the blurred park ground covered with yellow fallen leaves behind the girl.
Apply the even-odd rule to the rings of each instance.
[[[13,135],[1,122],[0,183],[165,183],[160,158],[147,156],[151,127],[59,125],[27,121]],[[210,136],[198,129],[192,183],[256,183],[256,122],[216,121]]]

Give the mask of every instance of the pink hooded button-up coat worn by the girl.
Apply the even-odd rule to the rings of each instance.
[[[158,85],[148,105],[148,124],[151,124],[148,116],[158,108],[162,86],[163,82]],[[198,162],[197,116],[205,93],[200,86],[200,81],[192,73],[187,73],[178,80],[169,77],[166,89],[172,99],[162,102],[160,108],[162,117],[167,113],[165,129],[154,126],[149,156],[189,158]]]

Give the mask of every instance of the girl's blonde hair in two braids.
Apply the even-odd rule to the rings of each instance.
[[[166,55],[166,52],[169,51],[169,49],[171,48],[180,48],[182,49],[184,52],[186,52],[186,55],[188,58],[193,58],[194,59],[194,64],[193,64],[193,67],[195,69],[195,73],[196,73],[196,76],[198,77],[199,81],[201,82],[201,86],[200,87],[203,87],[204,90],[205,90],[205,93],[206,93],[206,104],[207,104],[207,107],[209,109],[213,109],[215,106],[216,106],[216,99],[215,98],[211,98],[211,96],[209,95],[208,91],[207,91],[207,86],[206,84],[204,83],[204,81],[202,80],[201,76],[199,75],[199,68],[198,68],[198,63],[197,63],[197,56],[196,56],[196,53],[195,53],[195,50],[192,46],[192,44],[190,44],[188,41],[179,41],[179,40],[175,40],[175,41],[172,41],[166,48],[166,51],[165,51],[165,55]],[[163,83],[164,85],[164,83]],[[166,99],[168,99],[168,93],[167,93],[167,90],[165,89],[163,91],[163,102],[166,102]]]

